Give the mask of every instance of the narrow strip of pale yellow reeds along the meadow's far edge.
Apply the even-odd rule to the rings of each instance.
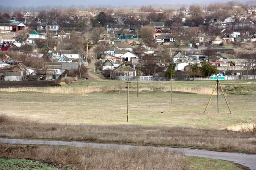
[[[127,88],[122,89],[127,90]],[[140,88],[139,91],[171,91],[170,87],[165,88]],[[5,92],[19,92],[19,91],[32,91],[41,92],[48,94],[86,94],[100,91],[119,91],[118,86],[90,86],[90,87],[47,87],[47,88],[36,88],[36,87],[12,87],[12,88],[0,88],[0,91]],[[130,91],[137,91],[137,88],[130,88]],[[182,91],[186,93],[196,94],[212,94],[212,88],[203,87],[174,87],[173,91]],[[216,92],[214,94],[217,94]]]

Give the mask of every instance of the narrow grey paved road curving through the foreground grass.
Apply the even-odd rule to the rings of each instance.
[[[170,147],[150,147],[150,146],[132,146],[132,145],[118,145],[118,144],[97,144],[86,142],[67,142],[67,141],[46,141],[46,140],[28,140],[28,139],[6,139],[0,138],[0,143],[5,144],[34,144],[34,145],[61,145],[61,146],[73,146],[73,147],[93,147],[93,148],[120,148],[129,150],[132,148],[153,148],[155,150],[176,150],[182,151],[188,156],[197,156],[212,159],[221,159],[231,161],[237,164],[249,167],[252,170],[256,170],[256,155],[247,155],[242,153],[229,153],[229,152],[216,152],[189,148],[170,148]]]

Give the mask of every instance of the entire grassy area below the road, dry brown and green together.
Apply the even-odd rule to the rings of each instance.
[[[0,156],[15,159],[0,159],[3,170],[55,170],[39,161],[58,165],[56,169],[168,169],[168,170],[241,170],[228,161],[184,156],[175,151],[153,151],[139,149],[123,151],[119,149],[74,148],[58,146],[0,145]],[[20,159],[17,159],[20,158]],[[61,164],[61,167],[60,165]]]

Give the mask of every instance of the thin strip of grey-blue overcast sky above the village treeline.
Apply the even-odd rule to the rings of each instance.
[[[226,1],[226,0],[225,0]],[[7,3],[8,2],[8,3]],[[70,6],[70,5],[149,5],[149,4],[191,4],[191,3],[210,3],[218,0],[0,0],[3,6]],[[223,2],[223,1],[222,1]]]

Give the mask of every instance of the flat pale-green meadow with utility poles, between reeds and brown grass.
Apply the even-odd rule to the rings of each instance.
[[[29,118],[39,122],[62,124],[127,124],[127,93],[94,92],[90,94],[44,94],[0,92],[0,114]],[[255,122],[255,95],[226,95],[233,114],[229,114],[223,96],[220,113],[217,97],[203,114],[209,95],[144,91],[137,97],[130,92],[129,123],[170,127],[223,129],[240,122]],[[10,102],[11,101],[11,102]]]

